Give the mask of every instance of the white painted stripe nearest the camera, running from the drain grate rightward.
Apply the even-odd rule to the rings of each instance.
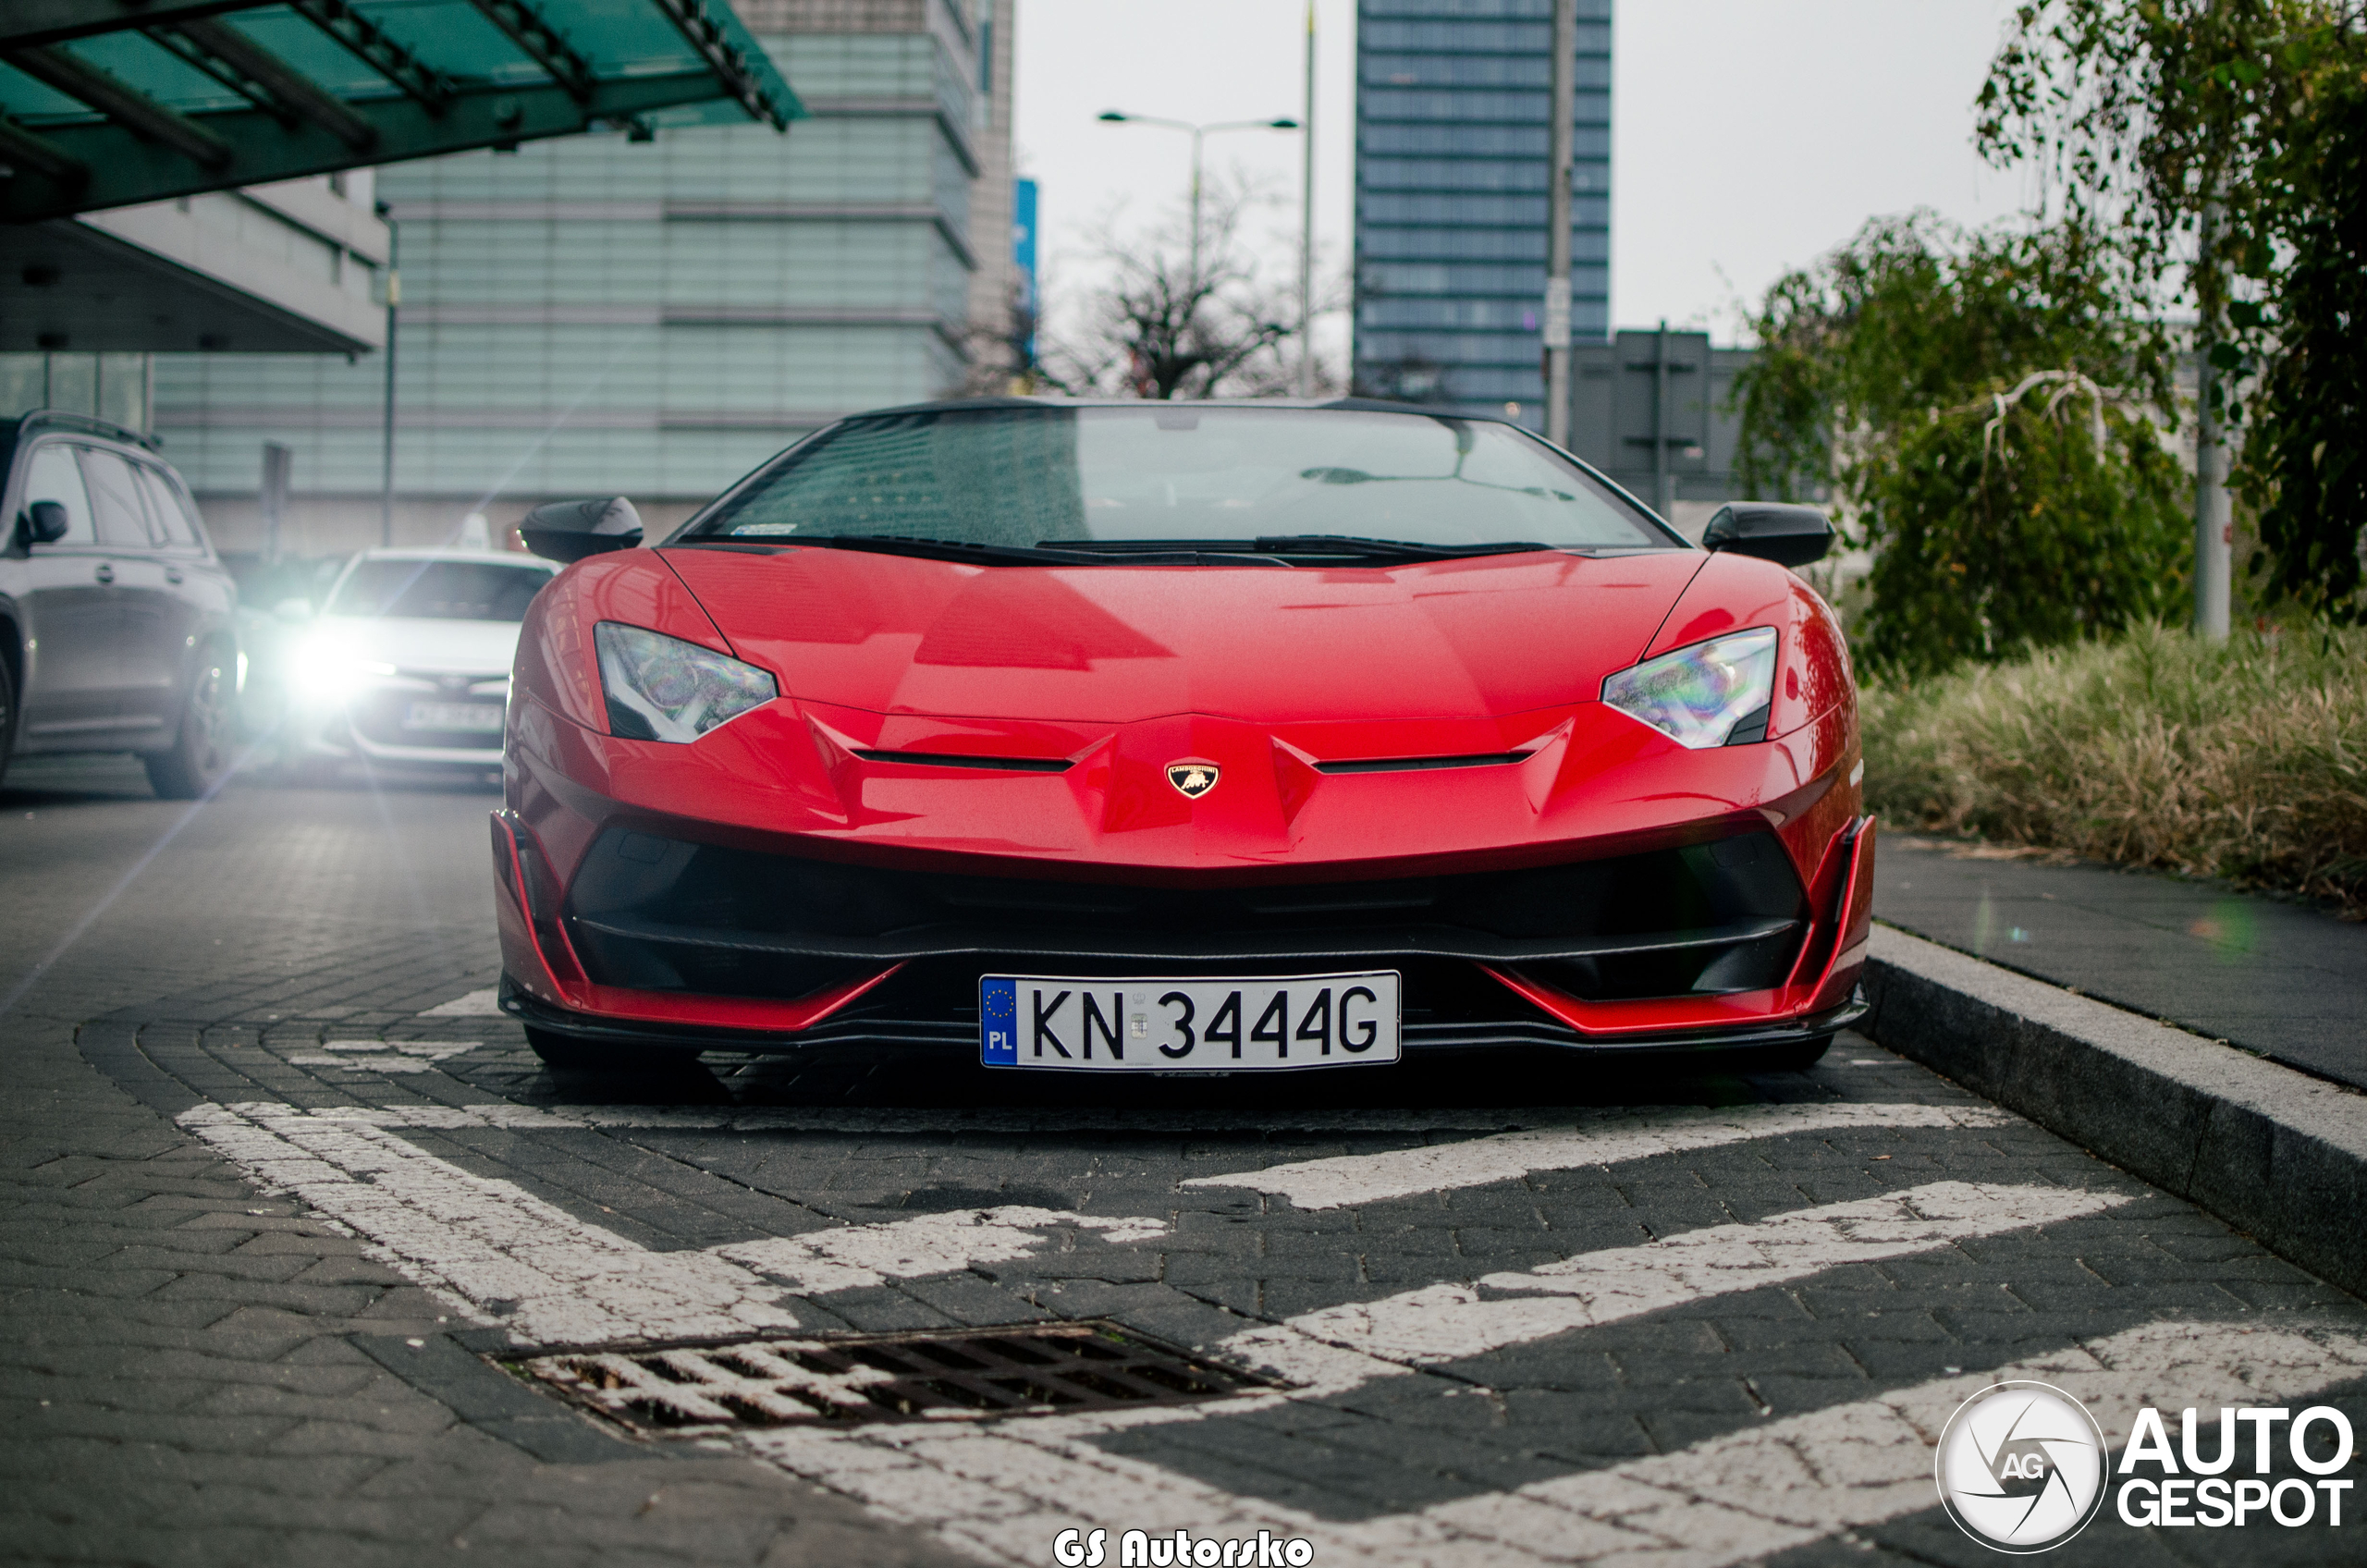
[[[1120,1416],[760,1433],[748,1447],[997,1563],[1044,1563],[1053,1535],[1070,1525],[1110,1530],[1112,1561],[1117,1532],[1181,1525],[1195,1537],[1259,1530],[1307,1537],[1318,1563],[1726,1568],[1936,1509],[1939,1431],[1948,1412],[1995,1381],[2055,1383],[2085,1402],[2107,1433],[2126,1433],[2142,1405],[2208,1407],[2237,1395],[2301,1402],[2360,1376],[2367,1376],[2367,1341],[2355,1336],[2147,1324],[1988,1374],[1766,1421],[1673,1454],[1361,1523],[1236,1497],[1105,1452],[1096,1435],[1139,1424]],[[1207,1419],[1224,1409],[1157,1414]]]

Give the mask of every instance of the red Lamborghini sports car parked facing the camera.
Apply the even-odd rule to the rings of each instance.
[[[1832,538],[1408,405],[970,400],[556,502],[492,824],[554,1066],[1233,1073],[1858,1016]]]

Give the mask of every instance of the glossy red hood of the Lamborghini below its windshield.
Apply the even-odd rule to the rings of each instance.
[[[731,649],[800,701],[1120,725],[1505,718],[1586,701],[1645,651],[1709,559],[1034,568],[857,550],[660,554]]]

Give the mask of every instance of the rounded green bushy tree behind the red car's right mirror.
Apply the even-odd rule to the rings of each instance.
[[[1929,213],[1879,218],[1768,289],[1735,388],[1740,478],[1825,495],[1863,533],[1877,668],[2161,613],[2182,481],[2145,417],[2168,358],[2128,294],[2085,225],[1967,234]]]

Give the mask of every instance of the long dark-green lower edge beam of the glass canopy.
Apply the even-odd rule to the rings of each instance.
[[[625,76],[596,83],[589,102],[578,102],[566,88],[469,88],[452,95],[440,114],[428,114],[407,97],[388,97],[348,109],[369,123],[379,144],[402,159],[426,159],[478,147],[509,147],[554,135],[575,135],[596,121],[623,121],[679,104],[715,99],[715,76],[677,71],[667,76]],[[17,178],[0,182],[0,223],[64,218],[69,213],[137,201],[163,201],[201,189],[267,185],[353,168],[353,149],[329,130],[305,121],[284,126],[263,109],[211,114],[206,123],[230,149],[227,163],[192,171],[178,152],[142,140],[123,126],[50,126],[43,140],[52,156],[71,159],[90,171],[76,187],[31,159]],[[24,135],[21,130],[17,135]]]

